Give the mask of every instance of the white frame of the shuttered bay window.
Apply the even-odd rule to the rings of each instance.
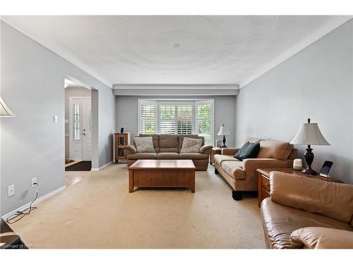
[[[138,99],[138,134],[143,134],[142,130],[142,119],[141,119],[141,109],[144,103],[154,104],[156,109],[156,120],[155,120],[155,133],[160,134],[160,105],[175,105],[176,107],[181,104],[192,105],[193,106],[193,120],[192,120],[192,134],[198,134],[196,131],[196,107],[198,104],[210,103],[211,105],[211,144],[214,145],[215,140],[215,111],[214,111],[215,99]],[[177,108],[175,121],[177,125]],[[177,134],[177,126],[175,127],[175,132]]]

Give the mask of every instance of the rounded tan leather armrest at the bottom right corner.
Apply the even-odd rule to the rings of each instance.
[[[327,227],[304,227],[290,235],[294,249],[353,249],[353,232]]]

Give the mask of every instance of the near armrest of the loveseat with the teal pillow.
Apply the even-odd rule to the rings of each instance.
[[[246,158],[243,161],[244,171],[247,173],[253,172],[256,174],[258,168],[291,168],[293,161],[278,160],[277,158]]]

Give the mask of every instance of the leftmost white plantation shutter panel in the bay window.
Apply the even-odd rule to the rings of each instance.
[[[140,132],[156,134],[156,103],[142,101],[140,104]]]

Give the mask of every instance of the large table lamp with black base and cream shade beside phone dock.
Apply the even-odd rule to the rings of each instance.
[[[318,124],[316,122],[310,122],[310,118],[308,118],[308,122],[301,125],[298,134],[290,143],[308,145],[304,153],[306,168],[301,170],[301,172],[316,175],[318,172],[311,168],[311,163],[313,163],[313,149],[311,149],[311,145],[330,146],[325,137],[323,137],[323,134],[321,134]]]

